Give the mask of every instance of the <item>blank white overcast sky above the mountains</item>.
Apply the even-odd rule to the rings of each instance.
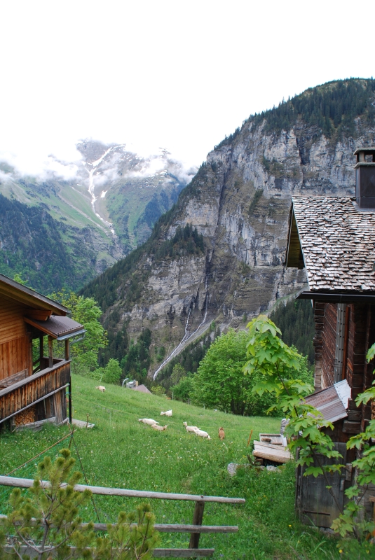
[[[347,0],[4,0],[0,160],[37,173],[92,138],[200,165],[283,97],[371,77],[373,19]]]

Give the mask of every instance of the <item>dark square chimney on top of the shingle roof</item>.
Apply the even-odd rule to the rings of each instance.
[[[363,209],[375,210],[375,148],[358,148],[355,165],[355,201]]]

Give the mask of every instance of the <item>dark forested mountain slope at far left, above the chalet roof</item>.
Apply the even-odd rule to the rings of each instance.
[[[95,276],[89,228],[58,223],[41,207],[29,207],[0,194],[0,271],[21,272],[41,293],[78,289]],[[85,239],[86,237],[86,239]]]

